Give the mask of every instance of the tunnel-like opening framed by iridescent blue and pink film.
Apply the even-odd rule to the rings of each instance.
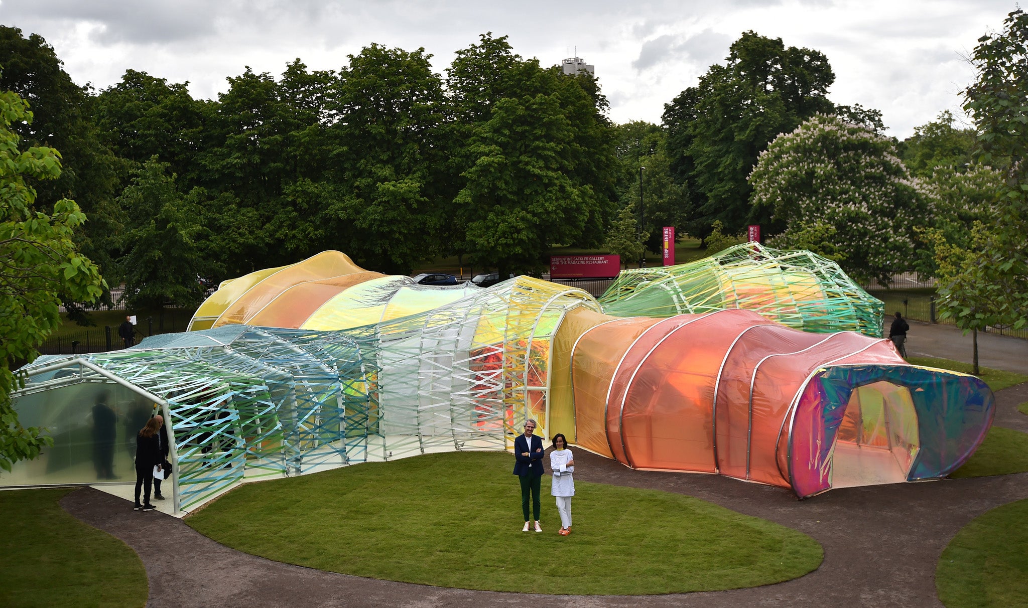
[[[886,381],[858,386],[836,434],[831,486],[906,482],[919,449],[910,389]]]

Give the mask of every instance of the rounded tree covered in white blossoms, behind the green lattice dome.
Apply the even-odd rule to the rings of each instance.
[[[769,244],[831,252],[858,280],[908,270],[915,229],[937,205],[935,189],[911,177],[891,140],[834,115],[775,138],[748,180],[750,204],[785,224]]]

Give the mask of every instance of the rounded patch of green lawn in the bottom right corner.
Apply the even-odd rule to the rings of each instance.
[[[935,567],[947,608],[1028,606],[1028,500],[996,507],[957,532]]]

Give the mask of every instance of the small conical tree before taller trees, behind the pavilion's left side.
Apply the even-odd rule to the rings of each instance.
[[[204,297],[197,278],[207,276],[201,241],[210,238],[200,224],[199,191],[183,196],[175,174],[156,156],[143,163],[120,196],[132,230],[118,261],[125,277],[125,299],[133,308],[196,306]]]

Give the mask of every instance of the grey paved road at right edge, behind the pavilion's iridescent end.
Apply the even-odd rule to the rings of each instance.
[[[888,318],[885,320],[889,322]],[[887,335],[888,331],[885,333]],[[912,320],[907,332],[907,354],[939,356],[969,364],[974,355],[971,335],[964,336],[952,326]],[[978,359],[983,368],[1028,374],[1028,340],[980,332]]]

